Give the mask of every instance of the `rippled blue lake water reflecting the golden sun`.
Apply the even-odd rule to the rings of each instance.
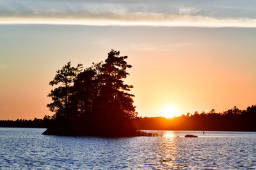
[[[44,131],[0,128],[0,169],[256,169],[256,132],[149,131],[163,136],[97,138]]]

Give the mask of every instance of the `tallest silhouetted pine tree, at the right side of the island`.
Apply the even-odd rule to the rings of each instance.
[[[120,52],[111,50],[108,59],[102,65],[100,79],[100,107],[107,111],[107,116],[111,118],[136,118],[135,107],[131,97],[134,95],[128,92],[132,85],[124,83],[124,78],[129,75],[126,69],[132,66],[127,64],[127,56],[118,57]],[[106,112],[105,111],[105,112]]]

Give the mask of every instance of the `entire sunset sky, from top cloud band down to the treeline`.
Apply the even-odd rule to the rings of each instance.
[[[0,119],[52,115],[49,81],[111,49],[139,116],[256,104],[256,1],[0,0]]]

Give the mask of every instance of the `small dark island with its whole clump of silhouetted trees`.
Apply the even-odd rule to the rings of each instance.
[[[59,85],[48,95],[47,104],[54,114],[54,123],[44,134],[138,136],[145,133],[134,125],[137,118],[133,105],[132,85],[124,83],[132,66],[111,50],[105,62],[81,71],[82,64],[70,62],[58,70],[50,85]]]

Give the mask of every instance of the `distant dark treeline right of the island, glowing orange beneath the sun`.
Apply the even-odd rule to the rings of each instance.
[[[209,113],[182,115],[175,118],[140,117],[137,122],[139,129],[148,130],[184,130],[184,131],[256,131],[256,105],[246,110],[236,106],[223,113],[211,110]]]

